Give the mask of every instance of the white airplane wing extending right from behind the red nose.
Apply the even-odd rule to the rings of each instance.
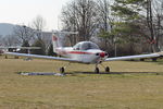
[[[163,56],[163,52],[156,52],[156,53],[150,53],[150,55],[137,55],[137,56],[106,58],[104,61],[123,61],[123,60],[130,60],[130,59],[158,58],[158,57],[162,57],[162,56]]]

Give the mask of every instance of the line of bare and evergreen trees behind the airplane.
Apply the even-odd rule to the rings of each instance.
[[[110,56],[161,51],[163,47],[162,0],[73,0],[61,12],[67,46],[78,41],[97,43]],[[8,46],[41,47],[35,53],[52,52],[50,39],[42,37],[46,21],[37,16],[29,26],[16,26],[14,36],[3,39]],[[0,37],[1,38],[1,37]]]

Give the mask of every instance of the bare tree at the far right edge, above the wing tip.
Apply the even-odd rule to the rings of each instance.
[[[146,38],[150,45],[152,52],[161,49],[161,39],[163,37],[163,1],[162,0],[147,0],[145,3],[143,13],[146,13],[146,22],[143,28],[146,31]],[[147,26],[147,27],[146,27]]]

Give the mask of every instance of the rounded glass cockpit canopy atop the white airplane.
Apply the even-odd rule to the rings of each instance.
[[[93,44],[91,41],[78,43],[73,48],[74,48],[74,50],[99,49],[98,45],[96,45],[96,44]]]

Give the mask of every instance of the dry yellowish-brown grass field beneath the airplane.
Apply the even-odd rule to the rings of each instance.
[[[0,58],[0,109],[163,109],[162,61],[104,63],[113,74],[91,74],[95,66],[84,64],[72,64],[66,76],[17,74],[63,64]]]

